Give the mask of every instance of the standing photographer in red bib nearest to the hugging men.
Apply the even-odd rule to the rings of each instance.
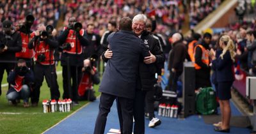
[[[81,79],[83,68],[83,46],[90,43],[84,38],[84,29],[75,17],[68,20],[68,26],[57,38],[61,45],[61,66],[63,77],[63,99],[71,98],[75,105],[77,101],[78,81]],[[72,80],[72,84],[71,84]]]

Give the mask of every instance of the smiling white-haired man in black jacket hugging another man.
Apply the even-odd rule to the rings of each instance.
[[[145,57],[144,61],[140,63],[134,100],[134,134],[145,133],[145,98],[147,103],[146,110],[149,113],[150,119],[148,126],[153,128],[161,123],[160,119],[154,116],[154,84],[156,84],[156,73],[158,81],[161,81],[164,54],[161,51],[159,41],[146,30],[146,23],[147,17],[143,14],[138,14],[132,19],[133,33],[141,38],[150,50],[150,56]]]

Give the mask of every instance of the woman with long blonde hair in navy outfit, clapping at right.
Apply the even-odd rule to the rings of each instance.
[[[230,98],[231,98],[231,86],[234,81],[234,74],[232,72],[232,66],[236,56],[235,46],[228,35],[223,35],[220,38],[221,54],[216,58],[216,52],[211,49],[212,66],[216,68],[216,80],[218,83],[218,97],[221,110],[221,122],[218,123],[215,131],[224,133],[230,132]]]

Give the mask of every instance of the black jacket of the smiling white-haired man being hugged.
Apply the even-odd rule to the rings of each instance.
[[[159,41],[156,40],[150,33],[144,31],[141,34],[141,40],[145,45],[148,45],[150,52],[156,56],[156,62],[152,64],[145,64],[143,60],[140,62],[140,79],[137,82],[137,89],[148,91],[154,89],[156,84],[156,73],[161,75],[161,68],[164,68],[164,54],[161,51]]]

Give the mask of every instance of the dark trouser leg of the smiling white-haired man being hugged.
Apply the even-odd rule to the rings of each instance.
[[[134,134],[144,134],[145,133],[145,95],[146,91],[141,91],[141,89],[136,89],[135,100],[134,100]]]

